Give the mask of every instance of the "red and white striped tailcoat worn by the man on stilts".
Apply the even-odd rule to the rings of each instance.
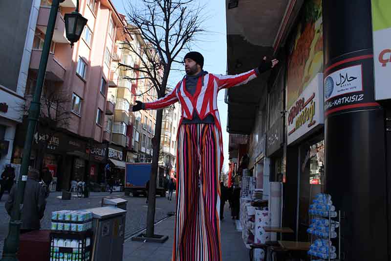
[[[172,92],[152,102],[144,103],[145,110],[163,109],[179,101],[182,107],[181,119],[192,119],[194,110],[197,112],[199,119],[205,119],[209,114],[215,119],[215,124],[219,131],[220,146],[220,169],[223,164],[223,149],[221,123],[217,110],[217,93],[218,91],[246,84],[257,77],[256,70],[240,73],[238,75],[220,75],[208,73],[198,78],[195,94],[191,95],[186,91],[186,76],[178,82]],[[203,82],[202,82],[203,80]]]

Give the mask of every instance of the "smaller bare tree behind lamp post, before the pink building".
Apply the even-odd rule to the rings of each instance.
[[[34,81],[31,86],[35,86]],[[32,95],[26,95],[26,103],[19,105],[22,111],[21,116],[26,117],[30,107]],[[40,117],[37,125],[37,130],[44,130],[44,133],[36,132],[34,137],[38,144],[37,165],[36,168],[40,171],[43,165],[43,155],[48,146],[56,146],[55,135],[62,129],[69,127],[71,118],[70,103],[71,97],[53,82],[45,82],[43,86],[43,94],[41,97]]]

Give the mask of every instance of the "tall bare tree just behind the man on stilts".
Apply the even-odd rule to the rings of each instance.
[[[128,26],[125,34],[145,42],[138,47],[125,40],[122,49],[134,54],[139,64],[119,63],[126,70],[135,71],[129,80],[149,79],[159,98],[164,97],[170,71],[179,70],[181,52],[189,49],[195,38],[205,32],[201,16],[202,7],[194,0],[128,0]],[[175,66],[176,65],[176,66]],[[152,172],[150,179],[147,216],[147,237],[154,235],[156,173],[162,127],[162,110],[156,115],[156,131],[153,138]]]

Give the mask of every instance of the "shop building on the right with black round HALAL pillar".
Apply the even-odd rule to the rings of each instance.
[[[250,174],[265,199],[270,182],[281,183],[282,213],[272,215],[281,214],[278,225],[295,232],[282,238],[309,241],[309,204],[317,193],[329,193],[342,215],[342,259],[389,260],[391,230],[382,229],[391,224],[389,96],[375,98],[385,86],[373,75],[374,67],[380,75],[388,70],[381,64],[388,47],[375,53],[372,37],[372,29],[380,33],[372,21],[381,16],[373,14],[387,4],[344,0],[335,9],[322,0],[226,3],[228,73],[251,70],[264,55],[280,60],[226,92],[230,158],[249,156]],[[374,230],[381,231],[376,237],[382,243],[363,248]]]

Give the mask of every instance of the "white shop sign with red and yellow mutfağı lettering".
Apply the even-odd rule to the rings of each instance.
[[[287,114],[288,144],[324,123],[323,73],[312,79]]]

